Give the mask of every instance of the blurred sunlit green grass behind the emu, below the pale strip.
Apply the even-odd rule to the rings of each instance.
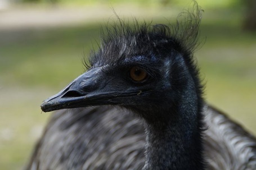
[[[206,40],[195,56],[206,100],[256,134],[256,34],[240,30],[240,15],[232,10],[205,12],[201,41]],[[99,24],[88,23],[0,31],[1,169],[24,166],[51,114],[41,113],[39,105],[83,72],[83,53],[96,47],[99,33]]]

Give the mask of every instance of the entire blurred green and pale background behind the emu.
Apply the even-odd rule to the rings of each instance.
[[[256,134],[256,34],[248,1],[197,1],[204,9],[195,56],[205,99]],[[168,24],[191,1],[0,0],[0,169],[21,169],[51,113],[42,100],[83,72],[100,26],[123,19]],[[251,22],[249,22],[251,23]],[[253,29],[248,29],[253,30]]]

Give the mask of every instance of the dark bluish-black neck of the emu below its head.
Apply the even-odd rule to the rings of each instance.
[[[155,113],[173,115],[169,120],[145,121],[146,163],[143,170],[204,169],[201,113],[196,103],[187,102],[179,105],[176,113]]]

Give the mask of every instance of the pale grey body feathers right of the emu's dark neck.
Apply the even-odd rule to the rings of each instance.
[[[209,169],[256,169],[256,139],[216,109],[207,108],[205,154]]]

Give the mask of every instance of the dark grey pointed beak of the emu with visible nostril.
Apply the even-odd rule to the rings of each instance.
[[[59,93],[44,100],[41,109],[43,112],[51,112],[66,108],[122,104],[120,97],[127,98],[138,93],[141,91],[122,89],[110,77],[102,76],[100,67],[83,73]]]

